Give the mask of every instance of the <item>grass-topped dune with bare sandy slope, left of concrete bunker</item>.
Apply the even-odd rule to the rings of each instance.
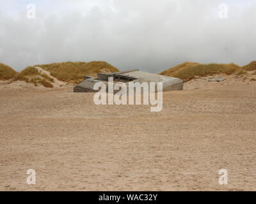
[[[111,73],[119,71],[107,62],[60,62],[28,66],[13,81],[24,81],[35,86],[60,87],[65,84],[77,84],[84,75],[96,76],[97,73]]]

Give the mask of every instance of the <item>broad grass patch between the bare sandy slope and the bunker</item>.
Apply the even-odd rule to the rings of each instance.
[[[60,62],[40,64],[40,68],[49,71],[53,77],[65,82],[79,82],[85,75],[96,76],[97,73],[111,73],[119,71],[108,62]]]

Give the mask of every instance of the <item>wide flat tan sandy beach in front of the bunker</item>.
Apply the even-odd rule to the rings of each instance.
[[[71,86],[1,85],[0,190],[256,191],[256,82],[203,78],[163,97],[152,113]]]

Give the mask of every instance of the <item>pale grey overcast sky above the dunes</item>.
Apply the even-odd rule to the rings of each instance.
[[[255,0],[0,0],[0,62],[244,65],[256,60],[255,10]]]

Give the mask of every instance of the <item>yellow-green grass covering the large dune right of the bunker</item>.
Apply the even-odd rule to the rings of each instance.
[[[189,80],[192,80],[195,77],[207,77],[212,76],[216,74],[226,74],[231,75],[234,73],[244,73],[243,69],[236,65],[236,64],[197,64],[194,63],[188,64],[187,66],[176,66],[174,67],[175,70],[166,70],[161,73],[161,75],[164,75],[164,73],[167,73],[167,76],[169,77],[175,77],[180,78],[184,80],[184,82],[188,82]],[[171,68],[172,69],[172,68]],[[166,74],[165,74],[166,75]]]

